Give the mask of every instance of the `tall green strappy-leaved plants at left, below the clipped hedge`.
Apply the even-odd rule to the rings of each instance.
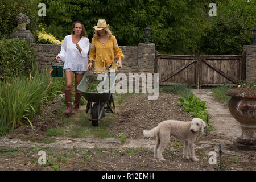
[[[43,105],[63,90],[64,79],[52,78],[49,71],[39,73],[34,66],[30,77],[14,77],[0,82],[0,135],[8,134],[11,129],[30,123],[39,114]]]

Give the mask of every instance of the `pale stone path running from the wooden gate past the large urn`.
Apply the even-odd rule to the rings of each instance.
[[[223,135],[228,140],[235,140],[241,135],[240,123],[232,117],[228,105],[214,101],[210,96],[212,93],[210,89],[193,89],[192,92],[202,101],[207,101],[205,106],[208,113],[212,115],[209,123],[216,129],[212,134]]]

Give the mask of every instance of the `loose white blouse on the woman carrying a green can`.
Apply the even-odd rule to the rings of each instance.
[[[58,54],[60,59],[64,61],[63,69],[71,69],[71,71],[86,71],[88,65],[87,54],[89,52],[89,39],[82,37],[77,43],[81,47],[81,53],[76,48],[76,44],[72,42],[72,35],[65,36],[61,44],[61,51]]]

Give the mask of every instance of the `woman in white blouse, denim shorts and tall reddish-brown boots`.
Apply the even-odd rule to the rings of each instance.
[[[81,92],[76,90],[79,85],[86,67],[88,65],[87,54],[89,52],[89,39],[84,27],[81,22],[75,22],[72,25],[71,35],[65,36],[63,43],[61,44],[61,51],[56,56],[56,60],[64,61],[65,70],[65,98],[67,110],[65,114],[76,114],[79,109],[81,100]],[[71,92],[72,92],[72,81],[75,73],[75,102],[74,109],[71,113]]]

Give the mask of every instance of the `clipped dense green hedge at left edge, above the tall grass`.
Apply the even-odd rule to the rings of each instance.
[[[0,80],[10,77],[28,76],[35,62],[34,48],[27,40],[0,40]]]

